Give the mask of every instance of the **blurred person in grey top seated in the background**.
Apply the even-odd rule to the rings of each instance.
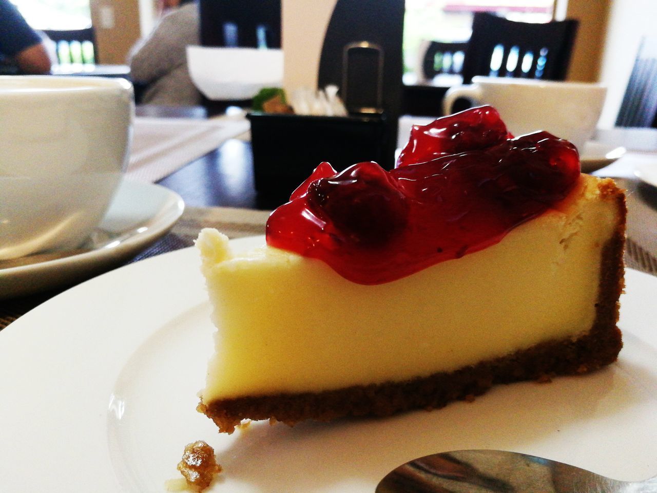
[[[201,95],[187,70],[187,45],[200,44],[198,4],[194,0],[160,0],[162,18],[128,55],[139,103],[198,105]]]

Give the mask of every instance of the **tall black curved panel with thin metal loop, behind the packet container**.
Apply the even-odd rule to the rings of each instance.
[[[404,0],[338,0],[319,59],[319,87],[336,85],[350,114],[380,114],[391,168],[403,84]]]

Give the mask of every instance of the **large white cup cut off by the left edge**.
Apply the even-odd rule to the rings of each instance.
[[[127,166],[123,79],[0,77],[0,259],[79,247]]]

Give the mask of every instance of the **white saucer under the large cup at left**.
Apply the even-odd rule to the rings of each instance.
[[[0,269],[0,299],[70,285],[108,270],[166,234],[184,208],[183,199],[169,189],[124,179],[101,224],[82,247],[89,251]]]

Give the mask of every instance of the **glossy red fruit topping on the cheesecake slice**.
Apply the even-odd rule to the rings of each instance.
[[[463,128],[473,118],[482,121],[482,114],[495,131],[480,129],[481,141],[468,131],[414,129],[438,139],[428,144],[438,158],[425,161],[426,151],[415,148],[390,172],[362,162],[336,173],[322,163],[271,214],[267,244],[319,258],[346,279],[371,285],[499,242],[570,193],[579,156],[571,143],[547,132],[505,138],[492,108],[431,126],[447,128],[442,120],[449,120],[451,128]],[[463,143],[457,142],[461,136]]]

